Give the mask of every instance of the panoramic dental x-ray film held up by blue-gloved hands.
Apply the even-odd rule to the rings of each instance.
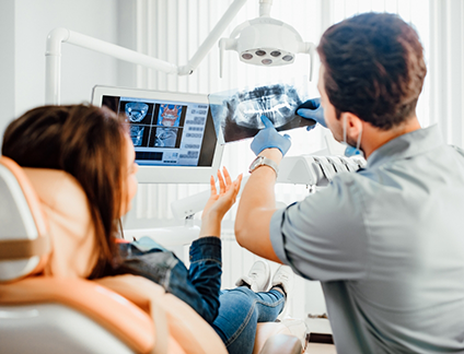
[[[295,114],[305,98],[302,90],[288,84],[209,95],[216,133],[222,134],[225,143],[256,135],[264,128],[262,115],[268,117],[278,131],[314,126],[314,120]]]

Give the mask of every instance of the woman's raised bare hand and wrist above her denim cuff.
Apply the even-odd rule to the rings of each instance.
[[[225,167],[222,168],[222,174],[218,170],[219,192],[216,189],[214,178],[211,176],[211,197],[209,197],[201,215],[200,237],[220,237],[222,217],[235,203],[242,175],[232,181]]]

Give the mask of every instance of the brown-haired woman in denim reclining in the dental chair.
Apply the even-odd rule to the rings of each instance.
[[[79,276],[131,273],[159,283],[208,321],[230,353],[252,353],[257,322],[275,321],[282,311],[293,276],[288,267],[278,269],[269,291],[268,266],[260,261],[239,280],[241,286],[220,291],[221,221],[235,202],[241,176],[232,181],[227,169],[218,173],[219,191],[211,177],[187,269],[151,239],[127,244],[120,238],[119,219],[130,210],[138,168],[123,117],[86,105],[38,107],[10,123],[2,154],[22,167],[66,172],[83,189],[93,226],[81,235],[92,246]]]

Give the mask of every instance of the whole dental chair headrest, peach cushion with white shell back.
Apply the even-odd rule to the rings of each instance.
[[[2,156],[0,196],[0,282],[38,272],[90,275],[97,260],[95,231],[85,193],[72,176],[21,168]]]

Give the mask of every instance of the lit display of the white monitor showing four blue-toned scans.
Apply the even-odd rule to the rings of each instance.
[[[126,115],[138,164],[201,165],[207,105],[109,96],[103,105]]]

